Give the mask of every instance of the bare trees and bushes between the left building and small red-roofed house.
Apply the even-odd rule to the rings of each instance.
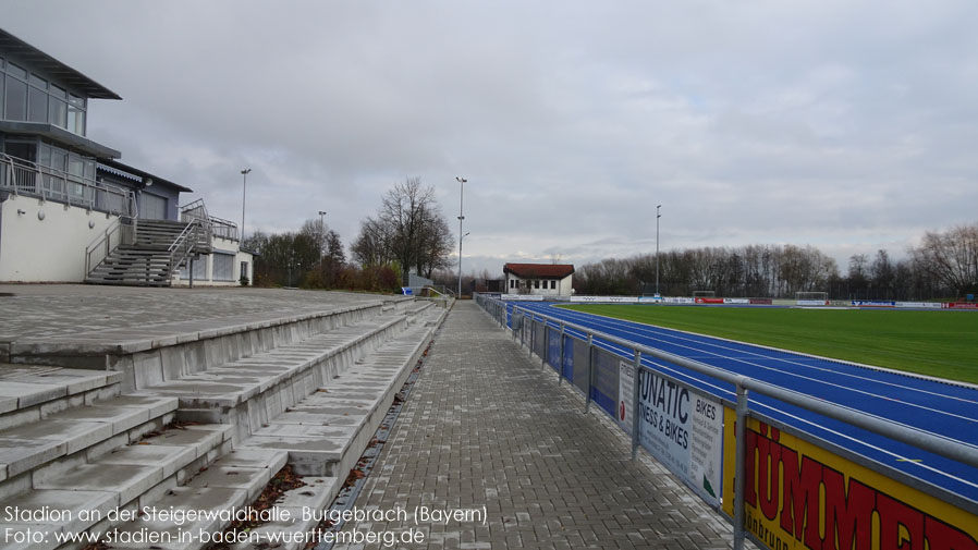
[[[408,178],[360,222],[350,260],[340,235],[321,219],[306,220],[295,232],[256,231],[242,247],[256,254],[254,281],[245,284],[400,292],[409,270],[430,277],[450,265],[452,233],[433,187]]]

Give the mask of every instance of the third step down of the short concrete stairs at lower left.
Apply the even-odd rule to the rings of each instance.
[[[99,536],[121,523],[118,517],[113,521],[112,511],[157,502],[230,448],[230,426],[172,428],[45,479],[33,490],[0,501],[0,510],[19,511],[15,521],[0,524],[0,533],[9,535],[9,545],[2,548],[53,550],[62,547],[59,535],[90,531]],[[11,543],[16,540],[13,534],[28,531],[40,534],[40,539]]]

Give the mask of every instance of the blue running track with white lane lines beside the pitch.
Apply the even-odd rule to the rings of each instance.
[[[978,451],[978,389],[583,314],[545,303],[511,303],[510,313],[513,305],[951,438]],[[597,340],[596,344],[632,356],[631,351],[618,345]],[[729,383],[649,357],[643,364],[713,395],[736,400]],[[763,395],[753,394],[750,400],[753,410],[978,502],[976,468]]]

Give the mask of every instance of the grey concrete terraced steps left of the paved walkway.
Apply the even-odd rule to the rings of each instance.
[[[97,536],[139,529],[218,533],[224,526],[212,522],[178,526],[173,522],[146,523],[152,518],[110,521],[105,514],[150,504],[195,511],[241,506],[257,497],[286,461],[298,473],[317,476],[309,478],[313,488],[293,491],[281,505],[322,509],[341,484],[330,474],[345,477],[345,470],[359,457],[444,313],[428,304],[377,304],[344,310],[337,316],[346,315],[343,322],[315,314],[286,323],[252,318],[246,326],[215,329],[207,338],[199,332],[183,341],[163,335],[171,331],[163,329],[149,340],[112,344],[142,347],[142,342],[151,342],[150,353],[159,360],[136,358],[140,353],[136,352],[132,371],[126,374],[12,366],[11,377],[47,372],[50,380],[61,372],[65,388],[46,389],[50,399],[40,402],[32,401],[40,398],[24,398],[26,408],[9,413],[36,410],[38,416],[41,411],[46,414],[37,421],[0,430],[0,448],[3,441],[9,443],[7,450],[0,450],[0,461],[7,461],[0,465],[5,476],[0,481],[0,510],[48,506],[74,514],[58,522],[28,517],[0,524],[0,533],[5,528],[12,533],[34,530],[46,537],[42,543],[0,547],[53,549],[59,547],[56,534],[80,531]],[[148,331],[154,332],[152,328]],[[146,338],[146,332],[139,333]],[[213,345],[205,345],[211,341]],[[98,349],[105,345],[101,342],[86,345]],[[193,353],[181,349],[168,356],[163,351],[168,345],[180,349],[187,344],[199,345]],[[50,342],[38,345],[40,351],[50,350]],[[206,370],[194,370],[201,365]],[[88,374],[95,378],[86,378]],[[100,382],[98,377],[103,377]],[[118,392],[126,379],[139,391],[86,404],[97,392]],[[207,418],[209,414],[221,424],[156,433],[176,415]],[[151,437],[144,439],[147,433]],[[103,518],[83,521],[83,510]],[[267,535],[305,533],[315,524],[298,521],[259,529]],[[145,540],[111,543],[113,548],[148,546]],[[192,538],[151,546],[198,549],[206,545]]]

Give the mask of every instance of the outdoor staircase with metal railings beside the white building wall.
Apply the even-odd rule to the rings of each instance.
[[[109,248],[110,228],[105,237],[89,245],[85,282],[169,286],[173,273],[190,258],[213,252],[211,221],[204,201],[198,199],[183,207],[181,218],[181,221],[120,219],[120,231],[126,237],[118,239],[114,247]],[[109,248],[105,259],[93,268],[93,252],[102,247]]]

